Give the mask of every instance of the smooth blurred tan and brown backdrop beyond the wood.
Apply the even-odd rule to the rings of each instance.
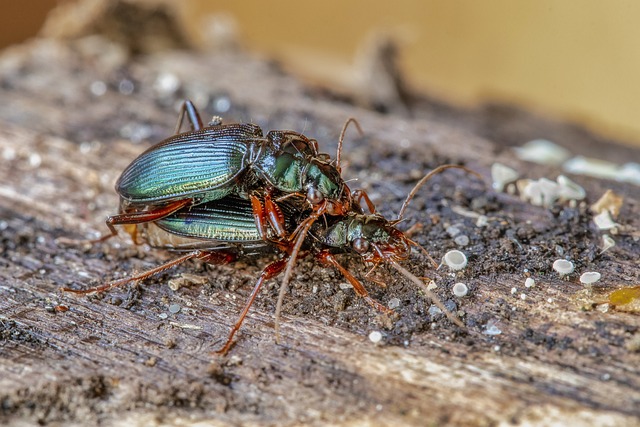
[[[57,3],[3,2],[0,47],[35,36]],[[510,103],[640,145],[638,2],[187,0],[179,9],[203,46],[226,34],[347,92],[366,84],[367,52],[393,40],[411,91],[463,107]]]

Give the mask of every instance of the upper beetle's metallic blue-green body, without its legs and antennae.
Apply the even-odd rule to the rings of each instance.
[[[136,158],[116,183],[122,204],[219,200],[255,189],[295,193],[336,214],[350,206],[349,188],[317,143],[293,131],[266,137],[253,124],[209,126],[172,136]]]

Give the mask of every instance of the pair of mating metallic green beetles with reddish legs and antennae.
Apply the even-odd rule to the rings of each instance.
[[[225,345],[226,353],[265,280],[286,269],[276,308],[276,333],[282,298],[295,261],[307,254],[335,267],[358,295],[373,307],[388,308],[371,298],[363,284],[346,270],[335,255],[353,253],[364,262],[385,263],[419,286],[459,326],[462,322],[398,262],[418,246],[395,224],[417,189],[434,173],[425,176],[409,194],[396,220],[375,213],[366,193],[352,195],[340,175],[340,148],[336,163],[318,153],[317,143],[293,131],[271,131],[262,136],[251,124],[203,127],[200,117],[185,102],[177,129],[187,116],[193,130],[180,133],[141,154],[122,173],[116,184],[120,213],[107,225],[134,225],[129,231],[151,246],[185,252],[181,257],[140,275],[85,290],[100,292],[197,258],[228,263],[241,256],[276,250],[281,257],[267,265],[253,288]],[[349,122],[347,122],[348,124]],[[472,172],[473,173],[473,172]],[[363,213],[364,199],[371,213]],[[320,219],[318,221],[318,219]]]

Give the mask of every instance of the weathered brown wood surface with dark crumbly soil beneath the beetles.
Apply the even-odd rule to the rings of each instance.
[[[44,37],[0,55],[0,424],[638,425],[638,313],[598,304],[608,291],[640,283],[638,187],[572,177],[588,202],[608,188],[625,197],[617,246],[600,254],[601,233],[586,207],[546,209],[491,190],[494,161],[531,178],[561,171],[522,162],[500,138],[480,136],[487,117],[480,111],[454,115],[418,102],[411,115],[386,115],[241,51],[134,55],[122,43]],[[180,88],[163,89],[168,78]],[[269,259],[187,263],[96,297],[61,293],[174,256],[134,246],[124,233],[93,247],[56,239],[106,231],[119,173],[171,135],[184,98],[209,115],[228,100],[225,121],[302,131],[330,153],[344,121],[357,118],[365,136],[349,130],[344,176],[356,178],[349,185],[368,190],[388,217],[438,164],[481,173],[484,183],[458,172],[435,178],[400,225],[423,224],[414,238],[437,259],[457,247],[448,226],[470,236],[462,273],[434,271],[419,254],[405,263],[435,280],[467,329],[431,318],[430,302],[384,268],[377,274],[388,286],[367,287],[385,304],[398,298],[400,307],[397,316],[381,315],[312,259],[294,275],[283,342],[274,342],[274,280],[226,357],[211,351]],[[519,129],[538,123],[532,120]],[[491,123],[500,126],[495,117]],[[608,147],[611,159],[638,154]],[[479,214],[488,226],[476,226]],[[568,280],[551,269],[561,257],[577,266]],[[344,262],[366,272],[357,259]],[[593,290],[577,280],[588,270],[602,273]],[[527,275],[536,279],[531,289]],[[167,286],[179,278],[179,289]],[[469,285],[468,297],[451,296],[458,281]],[[492,324],[500,334],[484,333]],[[382,332],[381,343],[368,339],[371,331]]]

